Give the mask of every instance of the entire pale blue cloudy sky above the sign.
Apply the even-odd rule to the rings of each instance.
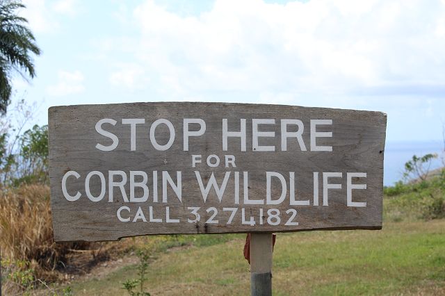
[[[442,140],[445,1],[24,1],[49,106],[227,101],[378,110],[387,140]]]

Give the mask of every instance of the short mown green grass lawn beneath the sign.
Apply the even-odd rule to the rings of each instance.
[[[211,240],[209,246],[157,254],[146,290],[152,295],[249,295],[244,236]],[[124,295],[122,282],[136,277],[136,265],[129,265],[71,288],[74,295]],[[382,231],[279,233],[273,290],[274,295],[445,295],[445,220],[387,222]]]

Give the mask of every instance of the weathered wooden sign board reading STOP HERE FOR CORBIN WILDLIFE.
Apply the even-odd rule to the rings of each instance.
[[[385,131],[357,110],[51,107],[54,238],[381,229]]]

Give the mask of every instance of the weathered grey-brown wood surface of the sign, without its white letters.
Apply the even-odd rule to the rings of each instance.
[[[96,149],[97,143],[111,145],[111,140],[95,130],[95,124],[103,118],[117,121],[115,126],[104,124],[104,129],[119,138],[119,145],[113,151]],[[130,151],[130,126],[122,124],[124,118],[143,118],[145,124],[136,126],[136,151]],[[165,151],[154,149],[149,140],[149,129],[155,120],[166,119],[175,127],[175,140],[172,147]],[[191,137],[189,151],[183,149],[184,118],[200,118],[206,122],[206,131],[200,137]],[[229,138],[228,150],[223,151],[222,121],[227,118],[229,131],[240,130],[240,119],[246,119],[246,151],[240,151],[240,139]],[[261,124],[260,131],[275,131],[274,138],[259,138],[259,145],[273,145],[275,151],[252,150],[252,119],[275,119],[275,124]],[[307,151],[301,151],[296,138],[288,138],[288,151],[281,149],[280,120],[298,119],[304,124],[302,139]],[[332,126],[317,126],[317,131],[332,131],[332,138],[317,138],[317,145],[330,145],[332,152],[310,151],[310,120],[332,120]],[[49,165],[51,180],[51,209],[53,215],[54,237],[56,241],[72,240],[118,240],[128,236],[143,236],[159,233],[241,233],[265,231],[308,231],[315,229],[381,229],[382,227],[382,187],[383,156],[385,151],[386,115],[379,112],[340,110],[330,108],[304,108],[298,106],[223,104],[223,103],[135,103],[83,106],[57,106],[49,108]],[[191,125],[191,130],[199,126]],[[288,131],[296,131],[289,126]],[[170,133],[165,125],[156,129],[159,145],[168,142]],[[193,154],[202,155],[202,163],[192,167]],[[221,158],[218,167],[208,167],[207,156],[216,154]],[[233,155],[236,167],[224,167],[224,156]],[[147,172],[149,198],[144,203],[124,202],[119,188],[114,188],[113,202],[108,202],[108,171],[122,170],[129,176],[130,171]],[[76,171],[81,177],[71,176],[67,180],[67,192],[74,195],[77,191],[81,198],[69,202],[63,196],[62,178],[68,171]],[[85,178],[88,172],[102,172],[106,179],[106,194],[99,202],[86,197]],[[153,200],[152,172],[158,172],[157,191],[159,202]],[[176,181],[176,172],[181,171],[182,202],[168,186],[168,203],[162,202],[162,171],[168,172]],[[211,174],[216,176],[218,185],[223,181],[225,172],[230,172],[227,188],[221,202],[216,191],[211,189],[207,202],[204,202],[194,171],[199,171],[204,185]],[[240,204],[234,204],[236,188],[234,172],[239,172]],[[266,198],[266,172],[278,172],[287,181],[284,202],[278,205],[243,204],[243,172],[248,172],[248,196],[250,199]],[[289,205],[289,172],[295,172],[297,200],[310,200],[309,206]],[[319,206],[313,205],[314,172],[319,172]],[[332,178],[330,183],[341,183],[342,189],[329,190],[329,204],[323,206],[323,172],[341,172],[342,178]],[[366,183],[366,190],[353,190],[355,202],[366,202],[366,207],[346,205],[347,172],[366,172],[366,179],[354,179],[353,183]],[[116,177],[117,178],[117,177]],[[117,178],[118,179],[118,178]],[[116,179],[116,180],[117,180]],[[280,183],[273,179],[273,199],[280,197]],[[92,195],[99,195],[99,177],[90,179]],[[129,195],[129,182],[125,185]],[[136,196],[142,190],[136,188]],[[133,220],[138,207],[142,208],[149,220],[149,206],[154,217],[163,222],[120,222],[116,215],[118,208],[128,206],[122,211],[125,217]],[[165,222],[165,207],[169,207],[170,217],[179,223]],[[201,219],[193,219],[188,207],[200,207]],[[218,209],[218,224],[206,221],[213,213],[207,208]],[[227,224],[229,211],[224,207],[236,207],[238,211],[232,224]],[[255,225],[242,224],[241,208],[245,215],[252,215]],[[264,210],[264,224],[259,224],[259,209]],[[282,222],[270,225],[266,222],[267,210],[280,210]],[[288,209],[296,209],[298,225],[286,226]],[[247,217],[247,218],[248,218]]]

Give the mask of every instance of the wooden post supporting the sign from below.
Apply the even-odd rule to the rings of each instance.
[[[250,295],[272,295],[272,233],[250,234]]]

